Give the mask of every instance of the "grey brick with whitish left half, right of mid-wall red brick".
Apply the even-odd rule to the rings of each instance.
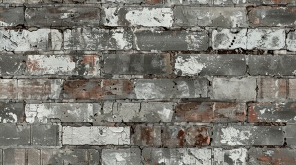
[[[137,99],[157,98],[206,98],[208,80],[199,79],[139,79],[134,80]]]

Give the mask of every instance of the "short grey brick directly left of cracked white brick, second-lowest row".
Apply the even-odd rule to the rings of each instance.
[[[32,125],[32,144],[57,146],[59,139],[58,125]]]

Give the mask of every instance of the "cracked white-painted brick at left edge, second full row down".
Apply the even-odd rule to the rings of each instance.
[[[0,30],[0,51],[61,50],[59,30]]]

